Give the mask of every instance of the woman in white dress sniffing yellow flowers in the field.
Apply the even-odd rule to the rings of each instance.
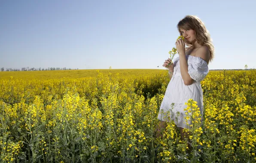
[[[161,128],[166,127],[165,121],[168,121],[166,116],[169,116],[180,128],[181,138],[184,139],[182,131],[189,127],[184,123],[184,109],[187,108],[185,103],[193,99],[198,103],[203,115],[203,92],[200,82],[209,72],[208,63],[213,60],[214,46],[208,30],[197,16],[186,15],[179,21],[177,28],[180,36],[185,39],[175,42],[179,57],[173,62],[170,59],[165,60],[163,64],[168,68],[171,80],[158,113],[160,120],[158,135]],[[189,46],[186,49],[185,44]],[[170,111],[169,115],[167,115],[168,111]]]

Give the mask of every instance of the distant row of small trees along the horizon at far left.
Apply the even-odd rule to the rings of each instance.
[[[77,68],[78,69],[78,68]],[[60,68],[60,67],[48,67],[48,68],[29,68],[29,67],[22,67],[21,69],[12,69],[12,68],[4,68],[0,69],[1,71],[50,71],[50,70],[71,70],[70,68]]]

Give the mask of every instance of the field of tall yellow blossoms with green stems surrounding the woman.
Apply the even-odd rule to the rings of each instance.
[[[185,140],[173,121],[155,136],[168,72],[133,71],[68,78],[1,72],[0,162],[256,161],[256,70],[210,71],[201,82],[203,123],[189,100],[193,126]]]

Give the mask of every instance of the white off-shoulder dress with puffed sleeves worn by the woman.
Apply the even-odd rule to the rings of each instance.
[[[185,111],[187,108],[185,103],[189,99],[197,102],[200,108],[201,115],[203,115],[203,91],[201,88],[201,81],[208,74],[209,69],[207,62],[201,57],[186,55],[188,63],[188,73],[194,79],[191,85],[185,85],[180,73],[180,58],[173,60],[174,73],[166,88],[165,96],[162,100],[160,110],[158,113],[158,120],[168,121],[165,118],[167,112],[170,111],[169,117],[174,120],[177,127],[190,128],[185,121]],[[180,114],[177,114],[179,112]],[[191,124],[191,122],[189,122]]]

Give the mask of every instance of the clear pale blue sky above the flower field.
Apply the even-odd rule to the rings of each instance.
[[[0,67],[165,69],[177,23],[196,15],[215,46],[209,69],[256,68],[255,6],[255,0],[1,0]]]

